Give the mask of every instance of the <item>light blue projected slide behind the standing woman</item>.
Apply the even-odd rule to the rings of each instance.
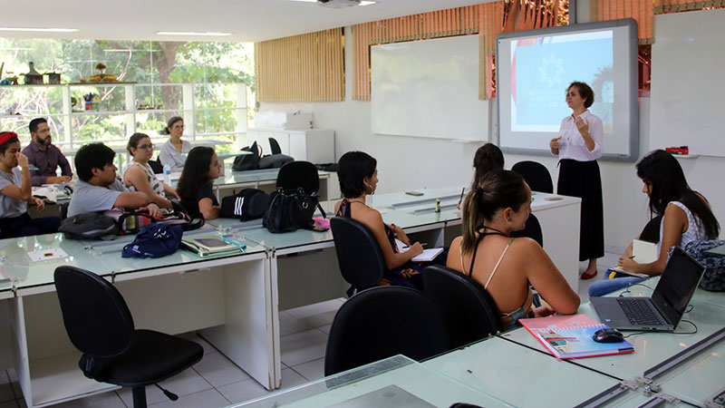
[[[612,129],[614,102],[611,31],[542,36],[512,41],[511,131],[558,131],[571,114],[565,88],[588,83],[596,95],[592,112]],[[584,63],[585,62],[585,63]]]

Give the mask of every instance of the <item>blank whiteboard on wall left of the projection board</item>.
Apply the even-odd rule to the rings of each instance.
[[[373,133],[488,141],[478,35],[371,47]]]

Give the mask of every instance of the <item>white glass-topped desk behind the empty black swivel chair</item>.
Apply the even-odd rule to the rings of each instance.
[[[187,234],[219,236],[216,228]],[[0,284],[0,307],[9,311],[10,348],[26,403],[62,403],[117,388],[85,378],[78,369],[81,355],[65,333],[54,293],[53,272],[59,266],[81,267],[114,282],[136,327],[169,334],[198,331],[260,384],[278,386],[278,325],[267,248],[250,241],[244,242],[245,252],[227,256],[178,250],[155,259],[123,258],[121,248],[131,239],[84,242],[49,234],[0,240],[0,274],[10,279]],[[27,256],[53,248],[68,257],[34,262]]]

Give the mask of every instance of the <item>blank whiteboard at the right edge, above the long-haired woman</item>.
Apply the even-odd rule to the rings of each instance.
[[[725,10],[654,18],[650,150],[725,156]]]

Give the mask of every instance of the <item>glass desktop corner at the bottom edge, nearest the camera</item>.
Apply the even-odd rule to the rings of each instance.
[[[511,406],[404,355],[331,375],[234,407],[447,407],[452,403]]]

